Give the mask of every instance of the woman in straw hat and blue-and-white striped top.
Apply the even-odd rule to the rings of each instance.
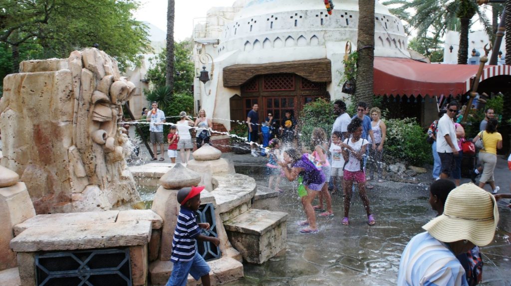
[[[474,184],[452,190],[443,214],[424,225],[426,232],[413,237],[403,251],[398,285],[469,285],[456,255],[490,244],[498,221],[490,193]]]

